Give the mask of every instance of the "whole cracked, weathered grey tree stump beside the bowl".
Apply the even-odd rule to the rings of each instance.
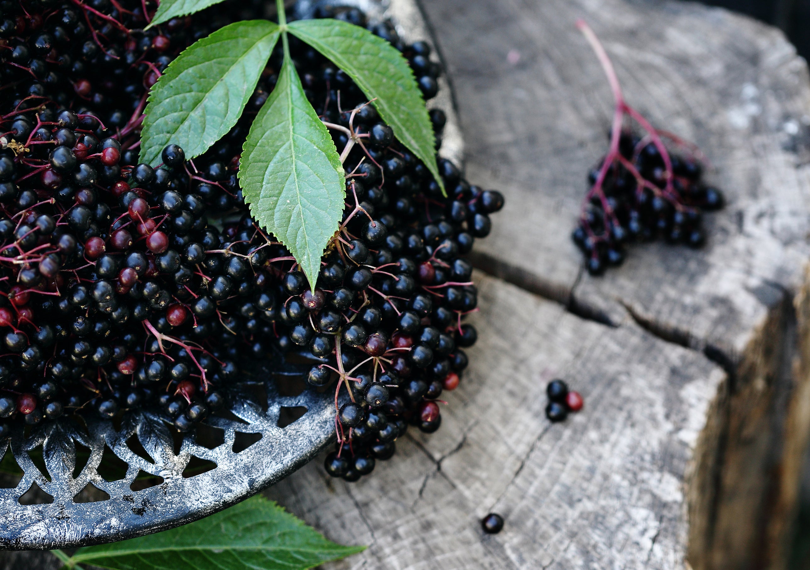
[[[440,432],[354,486],[313,464],[271,496],[371,545],[335,568],[782,568],[810,422],[804,61],[773,28],[689,3],[423,6],[468,178],[507,197],[476,261],[556,304],[485,279],[484,341]],[[582,274],[569,234],[612,100],[578,17],[629,103],[706,151],[729,202],[707,216],[706,249],[636,246]],[[588,403],[549,426],[557,374]],[[484,537],[492,509],[506,527]]]

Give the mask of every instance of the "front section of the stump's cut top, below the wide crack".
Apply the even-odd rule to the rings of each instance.
[[[336,568],[681,568],[684,480],[723,370],[635,325],[479,283],[472,321],[486,342],[441,430],[409,432],[354,485],[313,462],[268,495],[331,538],[369,544]],[[556,376],[586,401],[560,424],[544,415]],[[490,511],[501,534],[480,530]]]

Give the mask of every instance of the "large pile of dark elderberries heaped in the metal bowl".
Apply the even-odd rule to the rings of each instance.
[[[438,398],[458,386],[462,349],[476,340],[462,324],[477,304],[463,255],[488,235],[503,197],[440,160],[445,198],[347,74],[291,38],[347,172],[342,223],[310,291],[237,182],[280,45],[241,120],[206,154],[185,160],[169,145],[159,168],[136,164],[160,72],[229,18],[262,17],[263,3],[135,29],[154,8],[0,2],[0,436],[14,422],[140,406],[160,406],[186,431],[224,405],[241,363],[295,351],[315,364],[310,385],[335,383],[339,448],[326,469],[359,479],[409,424],[439,427]],[[366,25],[356,9],[318,16]],[[441,69],[429,46],[404,45],[390,23],[370,29],[434,96]],[[430,117],[438,148],[446,118]]]

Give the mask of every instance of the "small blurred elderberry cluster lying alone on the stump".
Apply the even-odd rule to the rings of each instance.
[[[590,274],[621,265],[625,247],[633,242],[663,238],[693,248],[706,242],[702,212],[722,208],[723,194],[701,181],[703,165],[696,153],[663,150],[671,174],[662,147],[625,131],[617,155],[603,158],[588,173],[590,192],[572,238]],[[610,164],[600,179],[606,160]]]

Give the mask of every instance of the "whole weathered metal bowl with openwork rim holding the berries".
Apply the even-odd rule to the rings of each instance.
[[[304,17],[320,3],[359,7],[372,21],[391,19],[403,40],[433,44],[414,0],[301,0],[294,10]],[[460,164],[444,78],[429,106],[448,117],[440,154]],[[128,413],[120,424],[88,414],[18,427],[0,442],[0,457],[11,446],[23,471],[15,487],[0,488],[0,548],[80,547],[166,530],[291,474],[330,443],[335,408],[330,391],[304,388],[312,363],[289,360],[258,365],[228,394],[228,410],[182,436],[159,410]],[[117,476],[107,472],[110,463]]]

